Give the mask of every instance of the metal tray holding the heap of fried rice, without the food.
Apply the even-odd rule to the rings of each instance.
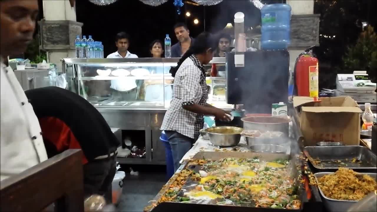
[[[318,172],[314,174],[314,177],[316,178],[317,184],[319,184],[318,178],[323,177],[324,175],[328,174],[333,174],[334,172]],[[371,177],[373,177],[375,180],[377,180],[377,174],[375,173],[360,173],[360,174],[366,174]],[[349,207],[352,206],[352,204],[356,203],[357,201],[352,201],[352,200],[336,200],[332,198],[328,198],[323,194],[321,187],[318,186],[319,193],[323,197],[323,204],[325,205],[326,209],[331,212],[342,212],[342,211],[347,211]]]

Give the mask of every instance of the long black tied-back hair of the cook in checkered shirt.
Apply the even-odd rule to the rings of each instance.
[[[202,32],[195,38],[195,42],[190,46],[189,50],[179,59],[177,66],[170,68],[170,73],[172,77],[175,77],[179,66],[192,54],[201,54],[211,48],[212,51],[215,51],[218,44],[216,43],[216,38],[208,32]]]

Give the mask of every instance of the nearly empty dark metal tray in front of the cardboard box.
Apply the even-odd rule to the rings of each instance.
[[[377,156],[364,146],[307,146],[303,152],[316,169],[377,169]]]

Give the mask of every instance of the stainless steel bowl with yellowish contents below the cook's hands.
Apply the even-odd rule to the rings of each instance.
[[[238,127],[221,126],[207,128],[210,142],[216,146],[236,146],[241,139],[244,129]]]

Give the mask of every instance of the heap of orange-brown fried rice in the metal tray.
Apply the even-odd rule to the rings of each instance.
[[[336,200],[361,200],[377,190],[376,181],[369,175],[342,167],[334,174],[319,178],[318,181],[323,194]]]

